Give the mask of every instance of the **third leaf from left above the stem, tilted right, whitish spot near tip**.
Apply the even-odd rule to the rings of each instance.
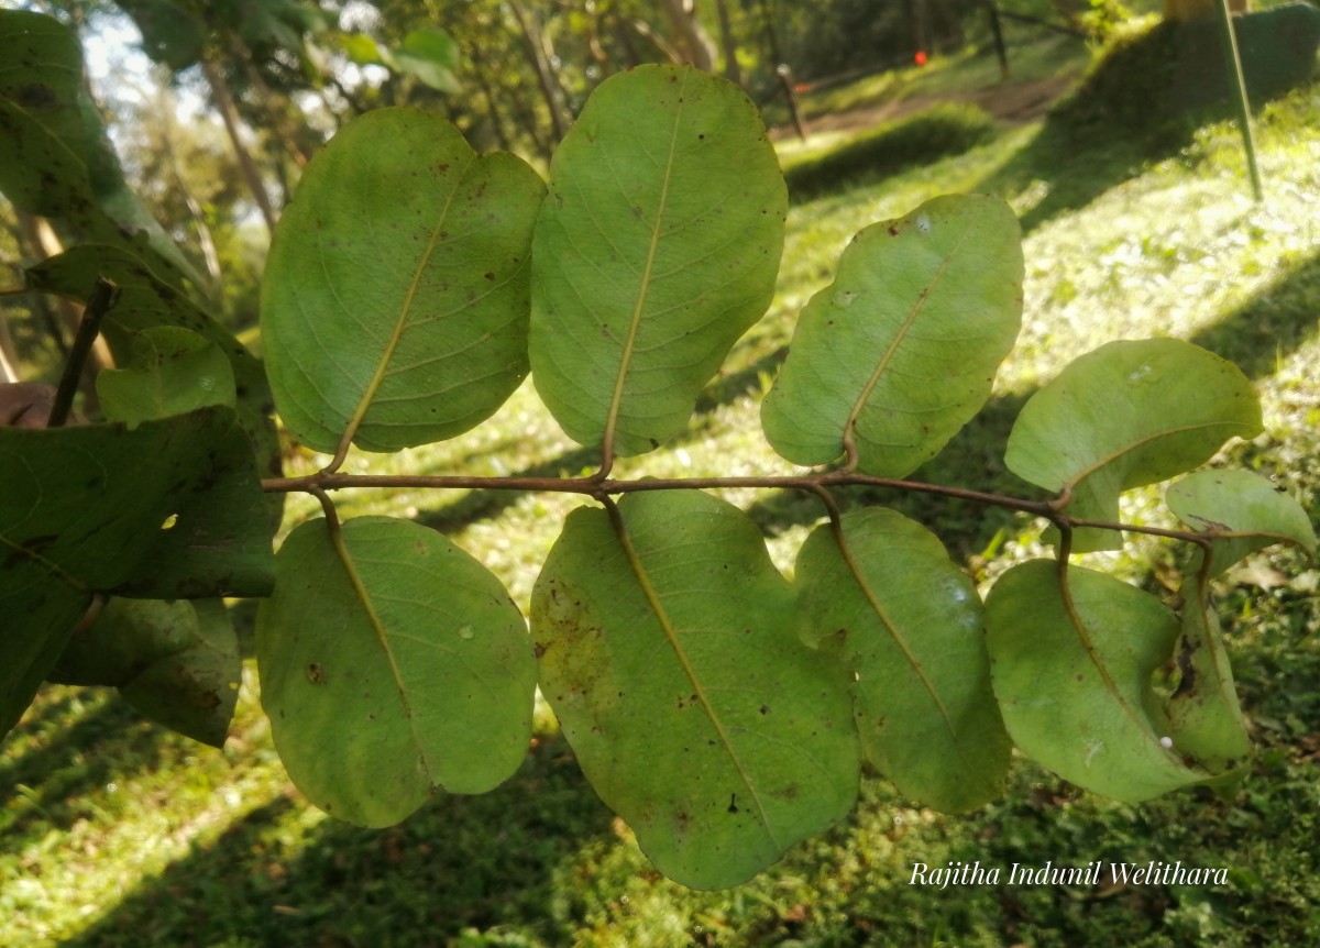
[[[762,404],[766,437],[795,463],[855,452],[865,473],[911,474],[990,396],[1022,279],[1018,219],[998,198],[940,197],[871,224],[803,310]]]

